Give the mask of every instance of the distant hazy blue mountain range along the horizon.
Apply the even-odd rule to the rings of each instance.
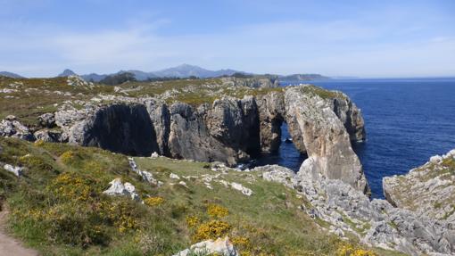
[[[142,70],[120,70],[116,73],[112,74],[97,74],[97,73],[90,73],[85,75],[80,75],[87,81],[94,81],[99,82],[103,78],[108,76],[114,76],[121,73],[133,73],[137,80],[146,80],[148,78],[189,78],[189,77],[197,77],[197,78],[217,78],[221,76],[232,76],[236,73],[243,73],[252,75],[251,73],[246,73],[243,71],[238,70],[206,70],[198,66],[189,65],[189,64],[182,64],[177,67],[172,67],[169,69],[164,70],[157,70],[157,71],[150,71],[145,72]],[[14,74],[11,72],[0,72],[0,75],[10,78],[23,78],[18,74]],[[66,69],[63,70],[57,77],[68,77],[71,75],[77,75],[74,71]],[[278,76],[280,79],[285,81],[291,80],[314,80],[314,79],[325,79],[327,77],[321,76],[319,74],[294,74],[289,76]]]

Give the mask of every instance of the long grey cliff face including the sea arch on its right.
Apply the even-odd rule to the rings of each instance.
[[[133,103],[134,110],[89,105],[83,110],[62,109],[55,119],[63,130],[62,137],[70,143],[118,152],[124,147],[126,151],[122,152],[131,154],[156,151],[173,158],[224,161],[228,165],[261,152],[277,151],[285,121],[294,145],[302,153],[309,151],[312,160],[318,159],[315,170],[327,178],[343,177],[352,186],[364,189],[360,162],[350,144],[350,137],[358,140],[359,134],[363,136],[360,111],[345,95],[331,93],[332,97],[322,99],[309,94],[307,88],[290,87],[242,99],[226,96],[197,107],[186,103],[169,106],[153,98],[116,98],[114,101],[120,103],[114,104]],[[324,104],[323,111],[319,103]],[[126,134],[133,124],[138,136]],[[119,136],[125,141],[109,142]]]

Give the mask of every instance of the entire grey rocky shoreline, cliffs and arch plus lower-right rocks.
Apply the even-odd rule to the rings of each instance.
[[[94,87],[69,80],[71,87]],[[276,80],[224,82],[231,90],[277,87]],[[0,122],[0,136],[234,166],[260,153],[277,151],[285,122],[296,148],[308,155],[299,172],[279,166],[248,171],[261,172],[263,179],[297,191],[302,197],[300,209],[321,228],[344,238],[353,235],[368,246],[410,255],[455,253],[455,151],[433,157],[408,175],[385,178],[387,200],[370,200],[367,178],[352,150],[352,142],[365,140],[364,121],[347,95],[301,85],[261,95],[221,95],[212,103],[190,104],[169,103],[170,93],[154,97],[96,95],[87,101],[63,103],[58,111],[40,116],[39,128],[29,128],[8,116]],[[130,160],[130,165],[134,169],[136,163]],[[119,182],[112,181],[112,186],[118,185],[123,193]],[[236,182],[225,186],[252,194]]]

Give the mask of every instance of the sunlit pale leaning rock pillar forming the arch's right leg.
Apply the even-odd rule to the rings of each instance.
[[[308,153],[300,173],[313,179],[340,179],[367,193],[367,179],[342,121],[324,99],[304,94],[304,88],[292,87],[285,92],[286,120],[300,129]]]

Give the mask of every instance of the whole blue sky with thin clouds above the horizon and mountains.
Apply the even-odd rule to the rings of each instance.
[[[455,76],[455,1],[0,0],[0,70]]]

